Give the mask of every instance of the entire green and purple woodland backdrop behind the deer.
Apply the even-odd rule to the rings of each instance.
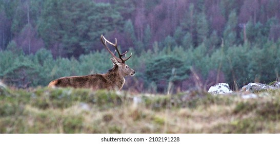
[[[104,34],[133,52],[124,89],[269,83],[280,73],[279,10],[278,0],[0,0],[0,79],[26,88],[106,73]]]

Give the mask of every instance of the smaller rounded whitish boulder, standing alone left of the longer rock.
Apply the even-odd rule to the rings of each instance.
[[[217,83],[216,85],[211,86],[209,88],[208,93],[211,93],[211,94],[228,94],[228,93],[232,93],[232,91],[229,88],[229,84],[227,84],[227,83]]]

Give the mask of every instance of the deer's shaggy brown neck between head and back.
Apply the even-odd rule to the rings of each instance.
[[[125,78],[119,74],[118,68],[113,67],[105,74],[107,82],[112,85],[112,89],[120,90],[125,84]]]

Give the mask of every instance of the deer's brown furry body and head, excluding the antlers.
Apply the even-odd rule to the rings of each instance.
[[[94,74],[87,76],[62,77],[49,83],[49,87],[74,87],[120,90],[122,89],[126,76],[134,75],[135,71],[124,63],[114,61],[114,67],[106,74]]]

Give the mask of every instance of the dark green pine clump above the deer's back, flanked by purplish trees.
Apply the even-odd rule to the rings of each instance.
[[[122,16],[109,3],[48,1],[42,13],[38,30],[45,44],[47,47],[59,44],[58,48],[68,56],[93,50],[101,33],[122,26]]]

